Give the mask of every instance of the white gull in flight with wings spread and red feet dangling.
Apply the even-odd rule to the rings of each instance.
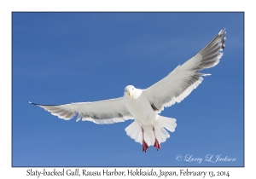
[[[143,145],[143,152],[146,153],[148,146],[154,146],[158,150],[160,143],[170,137],[166,130],[174,132],[177,126],[175,118],[160,116],[161,111],[164,107],[171,107],[176,102],[183,101],[201,84],[203,76],[210,75],[200,71],[218,64],[223,55],[221,51],[224,49],[225,33],[225,29],[222,29],[198,54],[183,65],[177,66],[148,89],[142,90],[128,85],[125,87],[124,96],[105,101],[64,105],[28,102],[65,120],[73,118],[77,113],[76,121],[82,119],[96,124],[113,124],[134,119],[134,122],[125,128],[126,134]]]

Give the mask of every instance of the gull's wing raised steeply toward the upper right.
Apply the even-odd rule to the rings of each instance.
[[[200,71],[218,64],[223,55],[220,51],[224,49],[225,33],[225,29],[221,30],[198,54],[182,66],[177,66],[166,78],[143,91],[155,112],[160,113],[164,107],[183,101],[192,90],[201,84],[203,80],[201,76],[210,75],[200,73]]]

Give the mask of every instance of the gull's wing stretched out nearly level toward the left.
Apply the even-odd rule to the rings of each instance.
[[[124,98],[116,98],[95,102],[76,102],[65,105],[41,105],[29,102],[38,107],[44,108],[52,115],[69,120],[76,113],[79,113],[77,121],[88,120],[96,124],[113,124],[124,122],[127,119],[133,119],[131,113],[127,110]]]

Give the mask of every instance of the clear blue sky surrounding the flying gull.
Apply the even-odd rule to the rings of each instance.
[[[242,166],[244,162],[242,13],[13,13],[13,166]],[[65,121],[26,101],[99,101],[166,77],[226,28],[212,76],[161,115],[176,131],[157,152],[126,136],[125,123]],[[211,163],[207,154],[236,159]]]

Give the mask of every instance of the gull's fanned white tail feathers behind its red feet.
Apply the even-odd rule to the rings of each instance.
[[[156,120],[154,120],[153,125],[142,125],[137,121],[134,121],[125,128],[125,131],[128,136],[134,139],[134,141],[143,144],[143,128],[144,141],[146,141],[148,146],[154,146],[155,138],[159,141],[159,143],[166,141],[166,139],[170,137],[169,133],[166,130],[174,132],[176,126],[177,124],[175,118],[166,118],[163,116],[159,116]]]

